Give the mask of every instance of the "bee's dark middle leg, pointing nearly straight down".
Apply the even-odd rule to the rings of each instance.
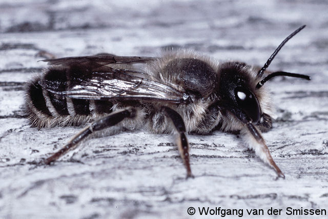
[[[173,109],[169,107],[163,107],[163,110],[168,115],[169,118],[171,118],[171,121],[175,127],[175,130],[179,134],[179,138],[177,139],[177,145],[180,152],[180,156],[182,158],[183,163],[186,166],[187,169],[187,178],[193,177],[193,174],[191,173],[190,168],[190,160],[189,160],[189,143],[186,137],[186,127],[185,123],[182,120],[182,117],[174,111]]]

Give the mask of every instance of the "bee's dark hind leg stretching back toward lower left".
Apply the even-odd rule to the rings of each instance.
[[[60,156],[63,156],[69,150],[76,148],[77,144],[84,140],[86,137],[90,136],[95,131],[100,131],[105,128],[114,126],[124,120],[125,118],[134,118],[136,115],[136,110],[134,108],[129,108],[126,110],[122,110],[119,112],[114,112],[108,116],[100,118],[99,120],[93,122],[82,131],[77,133],[63,148],[59,151],[51,155],[50,157],[46,158],[42,164],[50,164],[58,160]]]

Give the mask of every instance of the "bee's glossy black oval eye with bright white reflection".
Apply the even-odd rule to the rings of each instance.
[[[240,109],[252,119],[253,123],[258,123],[261,116],[261,108],[254,93],[247,88],[236,87],[235,98]]]

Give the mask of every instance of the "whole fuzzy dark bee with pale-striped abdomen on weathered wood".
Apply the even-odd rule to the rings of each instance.
[[[161,57],[98,54],[44,60],[50,67],[27,87],[32,126],[90,124],[42,163],[56,161],[87,137],[115,126],[176,133],[189,177],[186,133],[240,131],[262,161],[284,177],[261,135],[272,126],[272,102],[262,86],[278,75],[310,77],[282,71],[264,77],[263,73],[304,27],[286,37],[261,69],[240,62],[219,63],[186,49],[166,51]]]

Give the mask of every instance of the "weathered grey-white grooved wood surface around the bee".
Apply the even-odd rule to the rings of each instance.
[[[0,3],[0,217],[185,218],[188,207],[264,209],[267,217],[273,207],[282,218],[287,207],[328,211],[327,11],[326,1]],[[172,136],[144,131],[95,138],[52,166],[34,165],[81,128],[37,130],[23,117],[25,82],[45,67],[37,61],[46,52],[152,56],[185,47],[261,66],[303,24],[269,67],[312,77],[268,82],[277,120],[263,136],[285,180],[238,135],[218,131],[188,135],[195,175],[188,180]]]

